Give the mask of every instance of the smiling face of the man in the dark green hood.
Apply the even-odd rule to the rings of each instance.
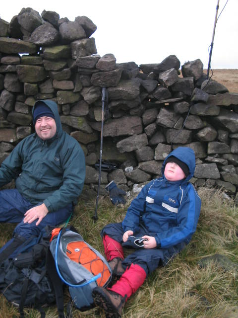
[[[43,139],[50,139],[56,134],[56,121],[52,117],[42,116],[37,119],[35,124],[35,130],[37,135]]]

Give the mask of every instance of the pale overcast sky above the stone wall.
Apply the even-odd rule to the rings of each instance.
[[[227,0],[220,0],[218,15]],[[207,69],[218,0],[10,0],[1,1],[8,22],[23,7],[40,14],[56,11],[74,21],[86,15],[96,25],[98,54],[112,53],[117,63],[160,63],[176,55],[183,65],[200,59]],[[212,69],[238,69],[238,0],[228,0],[215,31]]]

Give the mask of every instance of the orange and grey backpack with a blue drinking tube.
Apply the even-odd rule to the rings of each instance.
[[[88,244],[73,227],[58,229],[53,233],[50,251],[60,279],[68,286],[71,306],[80,311],[94,308],[92,290],[106,287],[112,278],[112,270],[106,259]],[[53,266],[49,266],[53,270]]]

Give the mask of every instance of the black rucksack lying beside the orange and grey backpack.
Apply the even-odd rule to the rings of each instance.
[[[7,301],[18,307],[21,318],[24,317],[24,307],[37,309],[41,318],[44,318],[42,306],[56,302],[46,259],[51,231],[52,229],[46,227],[39,237],[26,240],[18,246],[16,256],[0,263],[0,292]],[[62,308],[59,317],[64,317]]]

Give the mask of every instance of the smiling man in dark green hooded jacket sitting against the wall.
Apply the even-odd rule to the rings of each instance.
[[[46,225],[67,220],[85,179],[84,153],[62,130],[57,104],[38,100],[32,119],[35,133],[24,138],[0,167],[0,186],[15,180],[15,189],[0,191],[0,222],[18,223],[14,246],[39,235]]]

